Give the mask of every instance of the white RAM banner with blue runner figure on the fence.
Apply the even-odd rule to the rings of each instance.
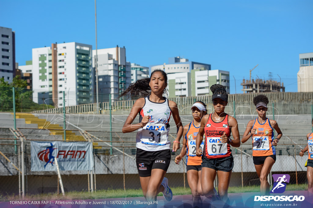
[[[31,171],[92,170],[94,157],[91,142],[33,142],[31,141]]]

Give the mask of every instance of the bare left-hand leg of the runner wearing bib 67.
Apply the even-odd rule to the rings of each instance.
[[[216,170],[208,167],[202,167],[201,170],[201,188],[206,197],[214,195],[214,179]]]

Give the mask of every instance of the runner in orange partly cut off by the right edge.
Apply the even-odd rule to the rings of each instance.
[[[312,126],[313,126],[313,119],[312,119]],[[308,195],[313,195],[313,133],[308,133],[306,135],[306,139],[308,140],[308,144],[305,146],[305,148],[299,153],[299,155],[302,157],[303,153],[308,151],[309,158],[306,163],[307,169],[306,169],[306,177],[308,178]]]

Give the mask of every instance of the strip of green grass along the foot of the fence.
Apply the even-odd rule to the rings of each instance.
[[[286,187],[286,191],[303,191],[307,190],[307,184],[290,184]],[[191,194],[189,187],[173,187],[173,195],[188,195]],[[260,186],[237,186],[229,187],[228,193],[245,193],[245,192],[259,192]],[[25,198],[27,200],[71,200],[71,199],[104,199],[104,198],[124,198],[124,197],[142,197],[141,189],[107,189],[107,190],[97,190],[94,193],[88,193],[84,191],[71,191],[66,192],[65,196],[62,194],[48,193],[48,194],[36,194],[27,195]],[[162,196],[160,193],[158,196]],[[3,196],[0,195],[0,201],[12,201],[18,200],[19,197],[16,195]]]

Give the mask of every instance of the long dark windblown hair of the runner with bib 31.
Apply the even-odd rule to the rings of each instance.
[[[118,96],[118,98],[122,96],[126,96],[126,95],[127,95],[127,98],[131,98],[131,97],[143,98],[143,97],[150,95],[151,87],[149,86],[149,83],[150,83],[150,79],[152,75],[155,72],[161,72],[164,77],[165,83],[167,83],[167,74],[161,69],[156,69],[151,72],[150,78],[137,80],[134,83],[131,83],[129,87]],[[163,93],[167,95],[166,89],[163,90]]]

